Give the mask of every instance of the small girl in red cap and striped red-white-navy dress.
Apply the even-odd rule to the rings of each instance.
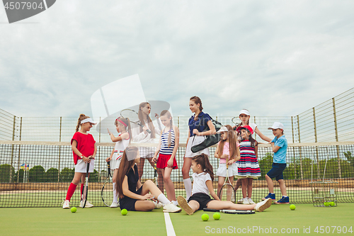
[[[253,204],[252,201],[252,182],[253,179],[261,177],[261,169],[257,161],[258,142],[253,139],[253,129],[249,125],[237,128],[237,132],[241,133],[240,156],[237,161],[238,173],[236,176],[242,181],[242,197],[244,204]],[[248,196],[248,197],[247,197]]]

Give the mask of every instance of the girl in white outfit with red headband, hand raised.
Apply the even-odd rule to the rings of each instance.
[[[120,133],[118,137],[115,137],[113,133],[110,133],[110,130],[108,130],[108,133],[110,135],[110,139],[112,142],[115,142],[115,147],[110,153],[110,157],[105,159],[106,162],[110,162],[110,169],[113,169],[113,202],[110,204],[110,208],[117,208],[118,205],[118,195],[115,187],[115,179],[117,179],[117,174],[118,174],[118,168],[120,165],[120,161],[122,158],[122,154],[125,150],[125,148],[130,144],[130,141],[132,140],[132,130],[130,130],[130,120],[124,117],[118,117],[115,120],[115,128],[117,129],[117,132]]]

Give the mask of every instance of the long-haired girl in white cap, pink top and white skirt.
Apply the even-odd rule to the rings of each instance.
[[[217,176],[219,176],[217,196],[220,198],[220,189],[226,177],[226,165],[229,166],[229,179],[231,184],[233,184],[234,175],[237,174],[237,165],[235,162],[240,159],[240,149],[239,142],[237,142],[236,134],[231,125],[222,126],[217,133],[221,133],[221,140],[217,143],[214,157],[220,159],[219,168],[217,169]],[[227,201],[230,201],[230,199],[231,196],[227,196]]]

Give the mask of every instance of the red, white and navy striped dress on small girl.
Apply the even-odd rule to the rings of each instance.
[[[240,143],[240,156],[241,159],[237,161],[238,165],[238,178],[253,178],[261,177],[261,169],[257,161],[254,147],[251,147],[249,140],[244,140]]]

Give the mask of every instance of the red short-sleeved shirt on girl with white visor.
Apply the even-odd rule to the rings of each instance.
[[[83,154],[85,157],[89,157],[93,155],[93,152],[95,152],[96,141],[93,139],[91,134],[88,133],[87,135],[84,135],[83,133],[76,132],[72,137],[72,141],[73,140],[76,140],[77,142],[77,150],[79,150],[79,152],[81,152],[81,154]],[[74,154],[74,163],[77,164],[77,160],[82,158],[76,155],[74,151],[72,151],[72,153]]]

